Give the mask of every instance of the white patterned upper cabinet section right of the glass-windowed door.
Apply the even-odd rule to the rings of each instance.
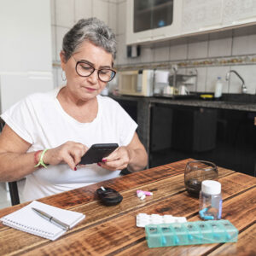
[[[256,22],[256,0],[183,0],[182,35]]]

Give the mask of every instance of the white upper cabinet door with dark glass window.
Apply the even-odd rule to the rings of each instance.
[[[126,44],[180,35],[181,0],[127,0]]]

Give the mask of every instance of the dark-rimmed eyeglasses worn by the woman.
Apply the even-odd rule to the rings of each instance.
[[[77,61],[74,57],[73,59]],[[90,77],[90,75],[94,73],[96,70],[98,73],[98,78],[105,83],[110,82],[116,74],[116,72],[113,69],[110,69],[110,68],[96,69],[86,61],[77,61],[76,72],[80,77],[84,77],[84,78]]]

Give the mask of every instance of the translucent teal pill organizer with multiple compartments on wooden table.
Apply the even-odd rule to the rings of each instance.
[[[208,220],[145,226],[148,247],[170,247],[237,241],[238,230],[228,220]]]

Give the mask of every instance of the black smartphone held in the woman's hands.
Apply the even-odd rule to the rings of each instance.
[[[107,157],[110,153],[113,152],[115,148],[118,148],[119,144],[117,143],[102,143],[102,144],[93,144],[88,149],[88,151],[82,156],[80,165],[90,165],[102,161],[102,158]]]

